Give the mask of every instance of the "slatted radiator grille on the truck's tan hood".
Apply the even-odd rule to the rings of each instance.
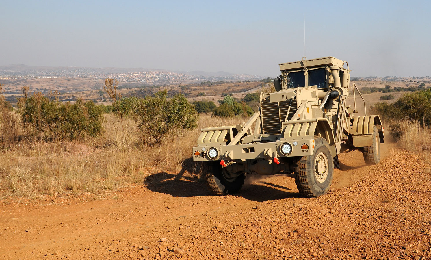
[[[286,118],[289,108],[289,100],[281,102],[262,103],[262,125],[263,133],[268,135],[281,134],[281,122]],[[292,119],[297,110],[296,100],[292,100],[288,120]]]

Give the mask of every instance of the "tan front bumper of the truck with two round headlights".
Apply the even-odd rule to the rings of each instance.
[[[294,146],[294,141],[297,145]],[[288,155],[281,153],[281,145],[289,143],[292,151]],[[202,148],[205,147],[205,151]],[[303,149],[307,147],[307,149]],[[217,150],[217,157],[209,158],[207,152],[210,148]],[[312,155],[314,150],[314,139],[300,139],[289,141],[276,141],[258,144],[237,144],[237,145],[211,145],[205,144],[198,147],[193,147],[193,160],[195,162],[217,161],[217,160],[247,160],[247,159],[272,159],[281,157],[297,157]],[[199,155],[195,155],[199,152]]]

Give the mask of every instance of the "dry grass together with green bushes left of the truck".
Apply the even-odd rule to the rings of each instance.
[[[105,82],[109,106],[63,103],[56,93],[25,88],[16,110],[1,85],[0,197],[100,195],[142,184],[154,172],[195,172],[199,129],[248,120],[199,115],[182,94],[168,98],[166,91],[123,98],[116,85]]]

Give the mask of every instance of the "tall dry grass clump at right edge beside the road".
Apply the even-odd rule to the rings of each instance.
[[[390,124],[390,133],[401,147],[415,151],[431,150],[431,128],[417,121],[402,120]]]

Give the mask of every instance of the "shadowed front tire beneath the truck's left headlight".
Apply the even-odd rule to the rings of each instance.
[[[222,168],[219,161],[203,162],[206,186],[215,195],[234,194],[244,185],[244,173],[234,178],[229,178],[225,173],[226,170]]]

